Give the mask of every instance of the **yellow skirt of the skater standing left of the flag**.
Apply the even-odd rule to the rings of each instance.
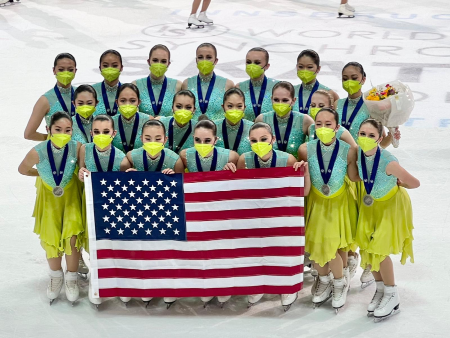
[[[36,181],[33,232],[39,235],[40,245],[47,258],[70,255],[70,238],[77,236],[75,246],[79,250],[83,234],[81,221],[81,191],[73,176],[61,197],[53,196],[41,179]]]

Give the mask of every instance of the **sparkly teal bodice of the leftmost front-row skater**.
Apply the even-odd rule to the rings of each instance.
[[[51,172],[50,162],[48,160],[47,154],[47,142],[51,141],[43,141],[34,147],[37,151],[37,155],[39,156],[39,163],[36,164],[37,172],[39,173],[39,177],[44,181],[47,185],[54,188],[56,186],[53,174]],[[64,175],[62,176],[62,181],[59,184],[62,188],[64,188],[72,179],[73,173],[76,167],[76,142],[70,140],[63,148],[55,149],[53,146],[52,154],[54,158],[54,164],[56,166],[56,170],[59,171],[59,167],[61,166],[62,155],[64,153],[64,148],[69,147],[67,162],[65,163]]]

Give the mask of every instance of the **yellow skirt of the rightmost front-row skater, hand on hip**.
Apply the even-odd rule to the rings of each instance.
[[[359,245],[361,266],[370,264],[371,271],[379,271],[379,263],[384,258],[399,253],[401,264],[408,257],[413,263],[413,228],[411,200],[403,187],[395,186],[371,206],[360,203],[355,242]]]

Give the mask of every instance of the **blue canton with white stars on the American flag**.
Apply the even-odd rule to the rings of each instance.
[[[186,241],[181,174],[91,175],[97,239]]]

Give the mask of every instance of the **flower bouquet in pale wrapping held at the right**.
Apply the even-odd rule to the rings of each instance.
[[[395,128],[409,119],[414,108],[414,97],[409,87],[398,80],[373,87],[362,94],[362,99],[370,117],[381,121],[391,135]],[[398,140],[392,137],[392,145],[397,148]]]

